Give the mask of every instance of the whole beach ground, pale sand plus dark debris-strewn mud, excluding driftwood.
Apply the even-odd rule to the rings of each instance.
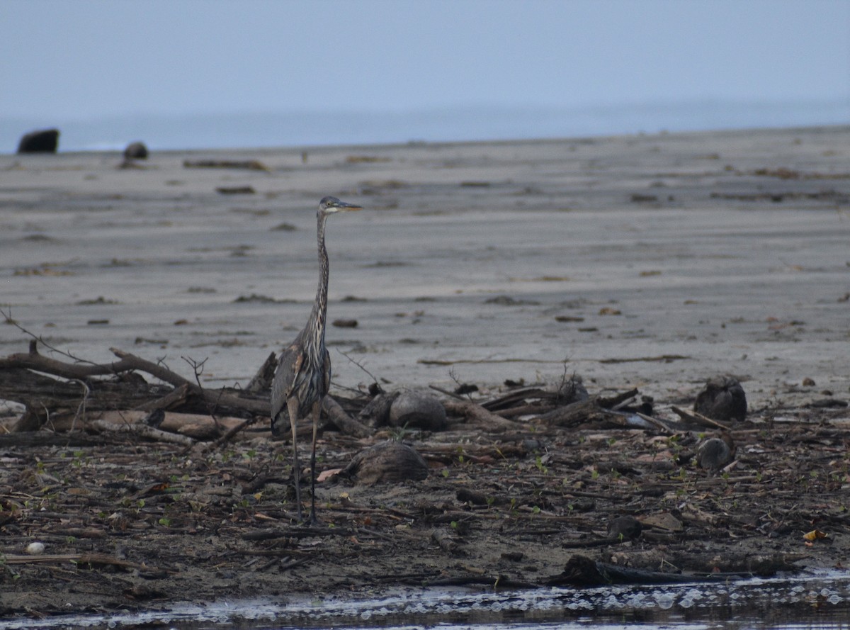
[[[8,442],[3,614],[539,586],[621,515],[657,536],[581,553],[682,570],[846,558],[850,128],[121,162],[0,156],[0,306],[18,325],[0,326],[0,354],[26,352],[24,328],[63,360],[51,348],[96,363],[117,348],[187,378],[200,366],[205,387],[244,385],[306,321],[315,208],[334,195],[365,209],[327,226],[331,394],[474,384],[463,397],[484,402],[576,374],[592,395],[638,389],[653,416],[676,420],[672,406],[731,374],[749,403],[731,428],[737,468],[710,474],[681,457],[704,432],[534,414],[507,433],[462,420],[360,440],[327,429],[320,469],[400,437],[431,474],[320,483],[317,533],[292,522],[289,447],[267,422],[206,451]],[[21,408],[4,410],[11,427]],[[802,538],[815,529],[829,542]],[[34,541],[82,561],[27,560]]]

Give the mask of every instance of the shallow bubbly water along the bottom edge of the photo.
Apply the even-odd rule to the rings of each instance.
[[[0,627],[180,628],[525,627],[850,628],[850,574],[752,578],[726,584],[531,591],[404,590],[341,597],[177,604],[143,613],[62,616]]]

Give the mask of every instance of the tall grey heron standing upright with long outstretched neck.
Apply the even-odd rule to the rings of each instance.
[[[298,465],[297,421],[307,414],[313,415],[313,451],[310,455],[310,524],[316,522],[315,468],[316,433],[319,429],[321,403],[331,385],[331,357],[325,347],[325,317],[327,313],[327,278],[329,265],[325,248],[325,222],[333,213],[360,210],[353,203],[339,201],[336,197],[325,197],[319,202],[316,213],[319,240],[319,288],[316,301],[310,312],[307,326],[298,333],[277,362],[275,380],[271,386],[271,430],[280,434],[280,423],[285,414],[289,416],[292,429],[292,472],[295,477],[295,501],[298,506],[298,520],[302,520],[301,511],[301,467]],[[284,411],[286,409],[286,412]]]

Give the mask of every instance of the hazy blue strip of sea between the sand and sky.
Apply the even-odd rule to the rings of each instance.
[[[142,140],[151,150],[303,145],[398,144],[546,139],[660,131],[788,128],[850,122],[850,99],[497,108],[486,105],[423,111],[291,111],[122,115],[79,120],[0,116],[0,153],[20,136],[57,127],[60,151],[122,150]]]

